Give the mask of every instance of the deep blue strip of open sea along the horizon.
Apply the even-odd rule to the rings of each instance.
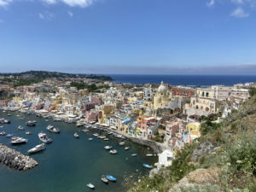
[[[256,75],[148,75],[108,74],[117,83],[172,85],[233,85],[256,82]]]

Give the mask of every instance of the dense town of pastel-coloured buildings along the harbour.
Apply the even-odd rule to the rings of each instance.
[[[96,89],[73,86],[81,82]],[[160,164],[168,166],[171,152],[175,154],[185,143],[201,137],[201,125],[208,119],[219,123],[239,108],[249,98],[252,86],[172,86],[164,82],[133,85],[51,78],[16,87],[2,83],[0,92],[5,97],[1,97],[0,108],[78,126],[100,126],[126,137],[161,143],[166,150]]]

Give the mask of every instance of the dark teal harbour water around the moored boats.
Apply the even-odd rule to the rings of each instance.
[[[143,163],[154,165],[157,160],[155,157],[146,157],[146,154],[152,151],[135,143],[126,141],[126,146],[130,147],[130,150],[126,151],[124,147],[119,146],[118,143],[123,141],[119,138],[107,136],[109,142],[106,142],[92,136],[94,132],[105,134],[101,131],[90,130],[89,133],[84,133],[80,131],[83,127],[78,128],[74,124],[56,122],[51,119],[45,122],[45,119],[24,113],[11,114],[12,116],[9,117],[7,113],[0,112],[0,117],[11,120],[11,124],[4,124],[0,131],[28,138],[28,143],[12,146],[9,144],[10,139],[4,136],[0,136],[0,143],[27,154],[28,149],[39,143],[38,133],[40,131],[47,133],[53,139],[53,143],[47,144],[43,152],[32,155],[39,165],[30,171],[19,172],[0,164],[0,189],[4,192],[91,191],[86,187],[87,183],[93,183],[96,186],[95,191],[125,191],[129,187],[125,178],[132,175],[135,179],[139,175],[148,174]],[[18,119],[16,114],[24,115],[25,119]],[[28,119],[38,121],[37,125],[27,127],[25,122]],[[61,134],[46,131],[45,128],[49,124],[59,127]],[[24,126],[25,131],[18,131],[18,125]],[[32,135],[27,136],[26,131],[32,131]],[[79,139],[73,137],[75,131],[79,133]],[[93,137],[94,140],[88,141],[89,137]],[[119,153],[109,154],[103,148],[105,145],[113,145]],[[131,157],[133,153],[137,153],[137,156]],[[113,175],[117,178],[117,182],[102,183],[102,174]]]

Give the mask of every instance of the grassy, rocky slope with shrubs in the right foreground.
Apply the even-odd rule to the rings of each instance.
[[[129,191],[256,191],[256,96],[177,152],[172,166]]]

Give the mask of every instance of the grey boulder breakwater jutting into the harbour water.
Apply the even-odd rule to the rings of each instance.
[[[34,166],[38,166],[36,160],[24,154],[20,154],[20,152],[8,148],[2,143],[0,143],[0,163],[19,171],[30,170]]]

